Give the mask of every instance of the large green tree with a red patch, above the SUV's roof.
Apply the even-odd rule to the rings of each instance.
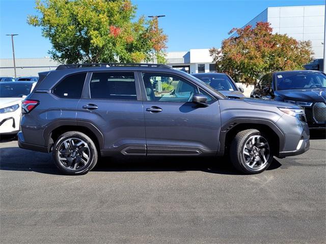
[[[129,0],[37,0],[35,8],[27,22],[42,28],[59,62],[142,62],[152,50],[165,62],[167,36],[153,20],[135,19]]]

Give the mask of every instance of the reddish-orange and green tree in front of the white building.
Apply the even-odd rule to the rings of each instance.
[[[237,82],[256,84],[266,73],[302,69],[312,59],[310,41],[272,34],[268,22],[258,22],[254,28],[233,28],[229,35],[234,32],[235,36],[223,40],[221,49],[210,49],[210,55],[216,70]]]

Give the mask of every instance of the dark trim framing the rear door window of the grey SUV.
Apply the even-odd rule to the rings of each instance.
[[[134,70],[102,70],[102,71],[91,71],[88,72],[89,73],[89,77],[87,79],[86,82],[88,82],[87,88],[88,91],[87,95],[88,95],[88,99],[92,99],[92,100],[114,100],[114,101],[142,101],[141,99],[141,90],[140,90],[140,85],[139,85],[139,80],[138,80],[138,75],[137,75],[137,71]],[[133,73],[134,76],[134,84],[135,84],[135,89],[136,89],[136,99],[112,99],[112,98],[92,98],[91,96],[91,80],[92,80],[92,76],[93,73]]]

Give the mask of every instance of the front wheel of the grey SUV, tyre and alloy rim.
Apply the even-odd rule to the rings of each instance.
[[[231,143],[230,158],[233,166],[243,173],[264,171],[273,161],[268,137],[255,129],[240,131]]]

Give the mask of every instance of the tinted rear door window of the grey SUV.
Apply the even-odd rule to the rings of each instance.
[[[94,72],[91,98],[137,100],[133,72]]]

